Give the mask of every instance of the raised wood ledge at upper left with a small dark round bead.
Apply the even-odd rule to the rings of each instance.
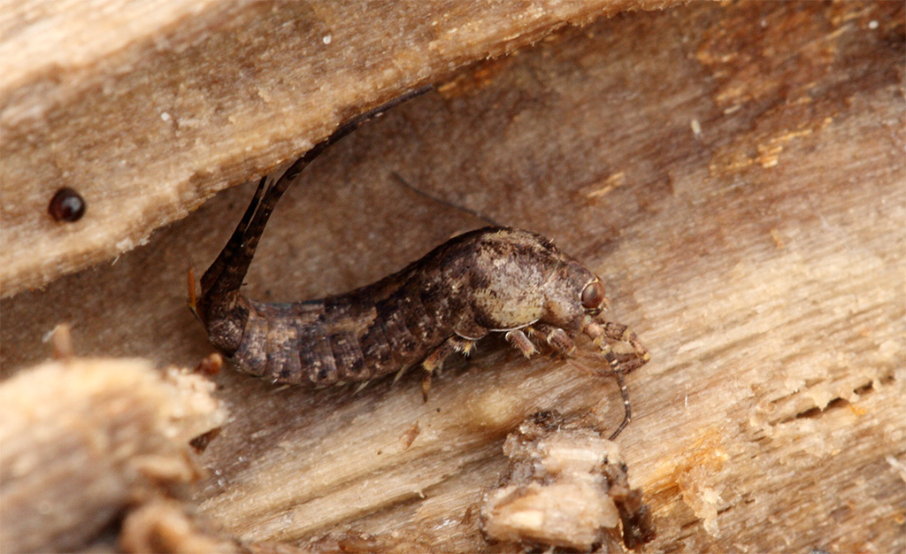
[[[7,2],[0,296],[144,244],[400,92],[566,24],[677,2]],[[89,217],[47,216],[62,187]]]

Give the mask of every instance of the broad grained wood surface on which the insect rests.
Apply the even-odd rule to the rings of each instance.
[[[906,548],[903,7],[696,4],[621,15],[486,63],[374,121],[284,197],[247,294],[371,282],[483,225],[541,232],[599,272],[652,361],[618,442],[651,552]],[[149,245],[6,299],[5,374],[72,322],[82,354],[191,364],[185,309],[252,186]],[[585,355],[578,364],[598,364]],[[517,551],[477,528],[526,414],[620,419],[614,384],[499,340],[436,378],[275,390],[228,368],[202,510],[246,539],[368,532]],[[390,533],[396,533],[395,535]],[[388,539],[390,538],[390,539]],[[326,547],[325,547],[326,548]]]

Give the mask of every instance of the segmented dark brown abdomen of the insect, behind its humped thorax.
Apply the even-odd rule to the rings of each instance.
[[[411,267],[342,296],[249,301],[236,365],[275,383],[368,381],[418,364],[452,335],[446,300]],[[407,275],[408,274],[408,275]]]

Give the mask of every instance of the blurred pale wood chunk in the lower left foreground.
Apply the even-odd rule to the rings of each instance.
[[[50,362],[0,384],[0,549],[84,550],[130,506],[197,481],[188,441],[226,415],[213,390],[127,359]]]

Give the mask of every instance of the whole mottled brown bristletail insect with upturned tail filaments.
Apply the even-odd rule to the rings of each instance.
[[[421,364],[427,397],[431,372],[488,333],[505,333],[526,356],[538,351],[535,342],[572,355],[573,337],[585,333],[621,386],[626,414],[615,437],[631,416],[622,375],[647,362],[648,351],[626,326],[599,318],[607,302],[601,279],[535,233],[471,231],[390,277],[320,300],[265,304],[240,294],[267,219],[289,183],[328,145],[387,107],[342,127],[273,185],[261,180],[202,277],[198,304],[190,301],[211,342],[242,371],[283,384],[367,382]],[[615,355],[612,341],[629,343],[634,355]]]

